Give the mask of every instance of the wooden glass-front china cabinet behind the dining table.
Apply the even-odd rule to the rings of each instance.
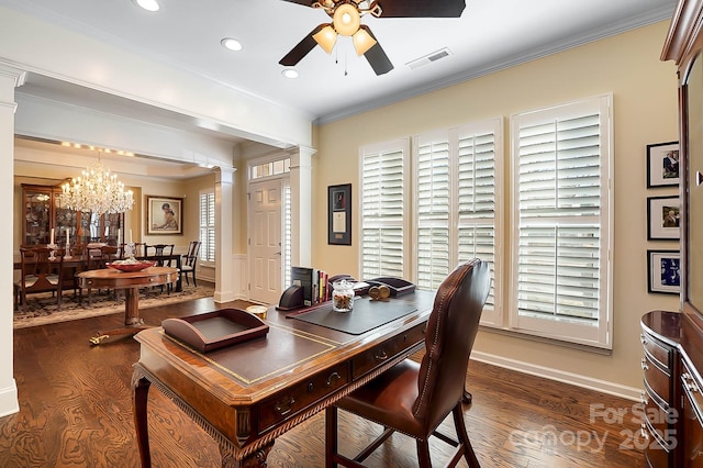
[[[22,185],[24,220],[22,223],[22,245],[40,245],[51,242],[66,244],[69,235],[71,245],[103,242],[118,245],[118,233],[124,233],[124,214],[81,213],[62,205],[60,187]]]

